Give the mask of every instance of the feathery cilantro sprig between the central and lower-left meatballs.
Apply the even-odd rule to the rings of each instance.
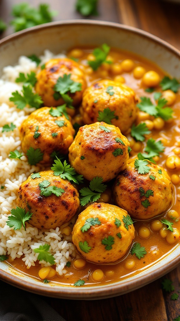
[[[57,158],[57,157],[56,157]],[[76,184],[83,182],[83,175],[78,175],[73,167],[71,167],[66,160],[62,164],[61,160],[57,158],[54,160],[53,166],[51,169],[54,172],[54,176],[60,176],[63,179],[68,179],[69,181],[73,181]]]

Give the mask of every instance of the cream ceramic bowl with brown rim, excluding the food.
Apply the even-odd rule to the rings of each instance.
[[[133,27],[118,23],[74,20],[52,22],[29,28],[0,41],[0,76],[2,68],[13,65],[21,55],[43,54],[50,49],[54,54],[81,45],[110,47],[134,52],[143,56],[172,77],[180,75],[180,52],[167,42]],[[137,275],[102,286],[76,288],[50,282],[44,284],[12,266],[0,262],[0,279],[18,288],[45,296],[63,299],[105,299],[138,289],[176,268],[180,263],[179,245],[154,264],[146,266]]]

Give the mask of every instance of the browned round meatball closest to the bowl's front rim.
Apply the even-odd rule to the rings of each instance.
[[[132,223],[127,225],[127,219]],[[79,214],[72,231],[72,241],[78,252],[87,261],[97,264],[117,263],[134,238],[135,228],[127,212],[105,203],[88,206]]]

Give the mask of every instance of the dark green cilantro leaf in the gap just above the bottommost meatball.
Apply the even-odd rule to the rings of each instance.
[[[89,187],[83,187],[80,189],[80,204],[85,206],[89,202],[96,202],[101,193],[103,193],[107,185],[102,184],[102,177],[94,177],[90,183]]]

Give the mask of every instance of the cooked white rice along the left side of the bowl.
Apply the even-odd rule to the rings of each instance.
[[[42,64],[51,58],[65,57],[65,55],[53,56],[48,50],[45,50],[44,56],[41,56]],[[22,258],[22,261],[29,269],[37,262],[38,253],[33,249],[40,245],[49,244],[50,251],[54,256],[56,263],[56,272],[59,275],[66,273],[66,263],[76,256],[75,247],[71,243],[71,236],[62,234],[65,224],[56,229],[39,230],[36,227],[26,224],[26,230],[14,230],[10,228],[6,221],[12,208],[16,208],[16,199],[20,184],[24,182],[33,172],[43,170],[39,166],[30,166],[26,156],[21,159],[10,159],[10,151],[21,151],[21,141],[18,127],[22,121],[34,110],[33,108],[17,109],[13,102],[9,101],[13,91],[21,91],[22,84],[15,82],[19,73],[29,74],[36,71],[36,63],[25,56],[19,58],[18,65],[7,66],[3,70],[3,76],[0,79],[0,255],[7,255],[10,261]],[[2,133],[2,127],[13,123],[16,128],[10,132]],[[38,261],[41,266],[50,266],[50,263]]]

